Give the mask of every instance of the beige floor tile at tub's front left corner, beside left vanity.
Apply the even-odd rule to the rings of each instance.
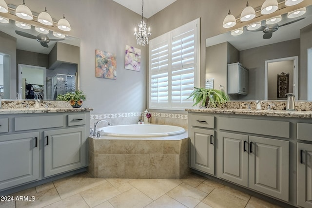
[[[65,199],[81,191],[96,187],[104,182],[107,181],[103,178],[92,178],[89,173],[84,172],[59,179],[53,183],[58,190],[61,199]]]

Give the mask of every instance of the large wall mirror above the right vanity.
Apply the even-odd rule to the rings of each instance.
[[[231,100],[285,100],[279,90],[286,88],[296,100],[312,100],[312,5],[306,10],[294,19],[282,14],[271,38],[263,38],[263,31],[247,31],[246,26],[239,36],[227,32],[207,38],[206,79],[214,78],[216,89],[227,90],[227,64],[240,62],[249,69],[248,95],[233,94]],[[261,25],[266,26],[265,19]]]

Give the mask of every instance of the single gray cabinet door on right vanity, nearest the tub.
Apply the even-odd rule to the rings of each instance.
[[[215,131],[192,128],[191,168],[215,174]]]

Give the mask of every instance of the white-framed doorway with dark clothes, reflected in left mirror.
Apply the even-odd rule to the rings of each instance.
[[[46,99],[46,68],[19,64],[19,92],[22,99]]]

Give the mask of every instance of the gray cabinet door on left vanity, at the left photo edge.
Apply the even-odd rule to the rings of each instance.
[[[39,132],[0,136],[0,189],[39,179]]]

